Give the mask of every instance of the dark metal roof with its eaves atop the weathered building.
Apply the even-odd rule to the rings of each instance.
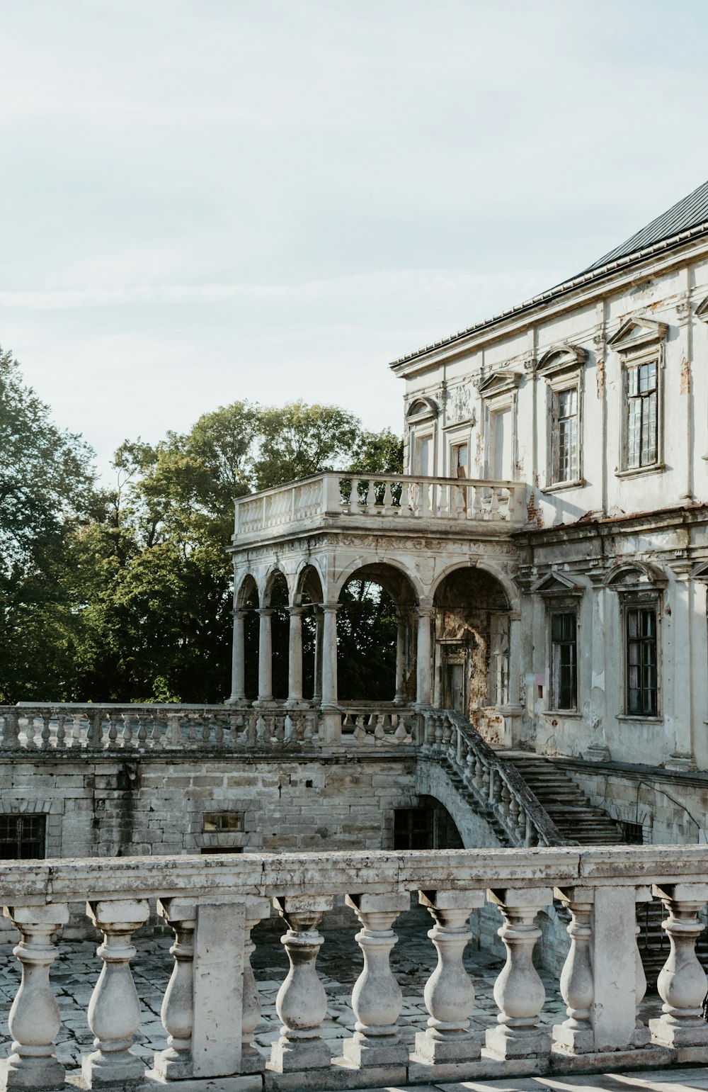
[[[406,353],[405,356],[399,356],[396,360],[392,360],[389,367],[395,368],[399,364],[406,364],[409,360],[415,360],[417,357],[424,356],[432,349],[452,345],[454,342],[469,336],[469,334],[488,330],[504,319],[529,311],[539,304],[562,296],[583,284],[596,281],[598,277],[609,275],[622,266],[633,265],[635,262],[648,258],[653,253],[670,250],[672,247],[688,241],[688,239],[703,237],[706,233],[708,233],[708,181],[699,186],[688,197],[677,201],[675,205],[672,205],[661,216],[657,216],[656,219],[652,219],[650,224],[647,224],[646,227],[643,227],[640,232],[637,232],[625,242],[621,244],[621,246],[615,247],[614,250],[599,258],[597,262],[588,265],[580,273],[576,273],[575,276],[569,277],[567,281],[562,281],[561,284],[554,285],[553,288],[549,288],[538,296],[532,296],[531,299],[527,299],[523,304],[516,304],[505,311],[500,311],[490,319],[476,322],[465,330],[458,330],[457,333],[451,334],[448,337],[443,337],[437,342],[432,342],[430,345],[423,345],[412,353]]]

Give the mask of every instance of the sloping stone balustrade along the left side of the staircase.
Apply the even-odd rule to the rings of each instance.
[[[423,753],[460,776],[482,811],[491,812],[511,845],[576,845],[557,829],[512,762],[493,750],[461,713],[423,713]]]

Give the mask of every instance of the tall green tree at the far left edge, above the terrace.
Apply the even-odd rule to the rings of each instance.
[[[68,549],[101,513],[93,452],[57,428],[0,351],[0,700],[71,693],[81,610]]]

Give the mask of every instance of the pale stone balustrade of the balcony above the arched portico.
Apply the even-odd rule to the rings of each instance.
[[[236,501],[237,538],[341,517],[412,523],[453,520],[520,524],[521,482],[415,477],[405,474],[315,474]]]

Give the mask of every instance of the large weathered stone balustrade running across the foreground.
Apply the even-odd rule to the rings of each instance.
[[[424,989],[430,1019],[409,1054],[398,1034],[401,990],[388,954],[397,939],[392,926],[411,893],[433,919],[428,936],[437,965]],[[356,1031],[333,1058],[321,1035],[327,995],[315,964],[324,942],[317,927],[336,895],[359,918],[356,940],[365,961],[351,994]],[[662,1014],[646,1026],[637,1016],[646,982],[636,903],[652,897],[664,906],[671,952],[658,982]],[[59,949],[51,941],[68,921],[68,904],[84,900],[104,934],[97,951],[104,965],[87,1008],[96,1049],[83,1058],[84,1082],[118,1090],[154,1080],[130,1049],[141,1018],[130,962],[132,934],[147,922],[155,898],[176,938],[161,1008],[166,1049],[154,1058],[161,1080],[203,1078],[214,1088],[215,1078],[250,1075],[233,1087],[285,1092],[708,1063],[700,1010],[708,983],[695,954],[697,915],[708,899],[706,846],[23,860],[0,865],[0,904],[22,935],[8,1087],[64,1084],[52,1045],[61,1014],[49,977],[61,941]],[[541,936],[537,914],[554,898],[571,913],[571,942],[560,977],[567,1019],[551,1028],[541,1022],[544,988],[532,953]],[[290,971],[276,1004],[280,1037],[266,1063],[253,1044],[260,997],[250,934],[271,903],[286,926]],[[499,912],[507,952],[491,1026],[475,1008],[461,962],[468,917],[485,903]]]

